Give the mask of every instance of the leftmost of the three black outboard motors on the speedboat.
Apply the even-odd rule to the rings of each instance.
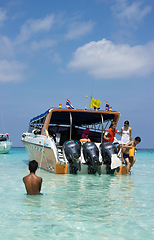
[[[74,140],[66,141],[63,144],[65,156],[69,162],[70,173],[77,174],[81,171],[81,163],[79,157],[81,156],[81,146]]]

